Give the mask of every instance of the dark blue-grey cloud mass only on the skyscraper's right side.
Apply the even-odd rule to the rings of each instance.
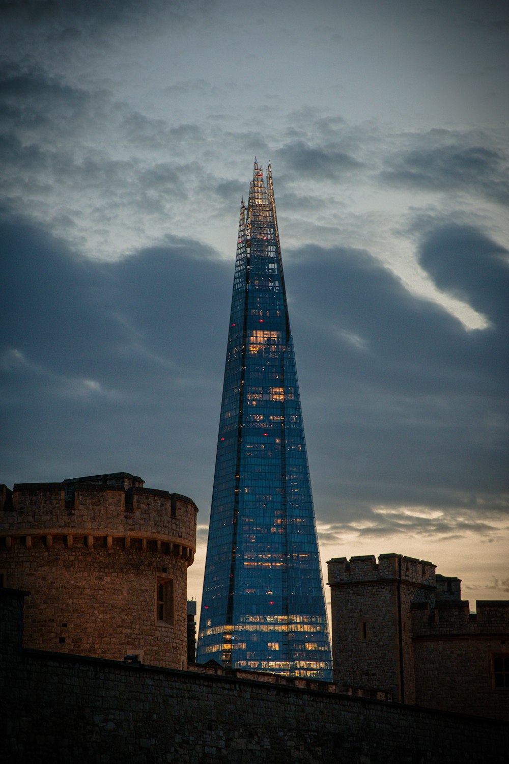
[[[477,270],[485,263],[494,277],[507,277],[495,257],[497,244],[473,229],[462,234],[476,252]],[[432,277],[447,241],[446,231],[435,231],[422,242]],[[457,237],[456,256],[461,244]],[[467,251],[463,268],[449,262],[444,270],[449,289],[468,286],[472,304],[491,320],[488,329],[473,332],[440,306],[408,293],[366,252],[308,247],[288,260],[322,519],[340,512],[346,521],[372,520],[371,507],[379,504],[447,507],[452,516],[507,510],[507,324],[499,312],[504,283],[498,297],[486,296],[486,280],[465,275],[468,257]],[[374,528],[383,533],[398,523],[397,517],[383,523],[378,518]]]

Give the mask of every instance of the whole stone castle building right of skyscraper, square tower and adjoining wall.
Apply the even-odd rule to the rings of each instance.
[[[509,601],[403,555],[328,563],[334,681],[353,694],[509,719]]]

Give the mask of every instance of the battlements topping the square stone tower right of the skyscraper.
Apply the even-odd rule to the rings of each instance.
[[[337,557],[329,560],[327,567],[330,586],[383,581],[404,581],[433,588],[436,586],[436,565],[393,552],[379,555],[378,563],[375,555],[360,555],[350,560]]]

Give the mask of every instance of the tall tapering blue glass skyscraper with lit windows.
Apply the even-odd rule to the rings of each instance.
[[[331,681],[270,165],[240,204],[197,661]]]

